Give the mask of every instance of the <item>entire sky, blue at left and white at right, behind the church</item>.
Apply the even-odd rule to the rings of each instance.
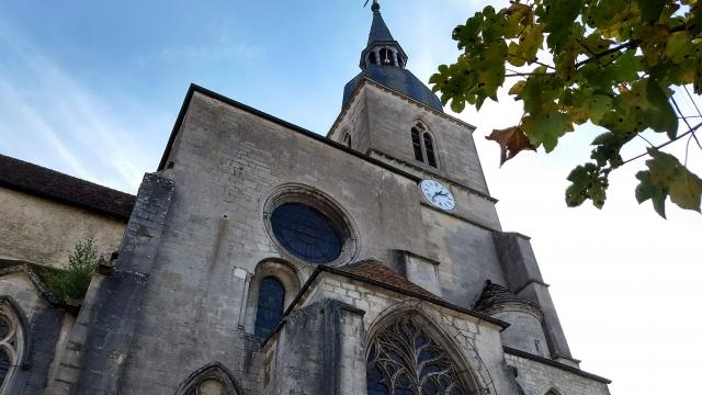
[[[455,58],[453,27],[486,3],[382,1],[408,67],[424,81]],[[343,84],[359,72],[371,23],[361,5],[3,0],[0,154],[134,193],[156,170],[191,82],[326,134]],[[663,221],[649,204],[639,207],[633,189],[643,161],[613,176],[604,210],[565,207],[565,177],[588,159],[592,127],[551,155],[524,154],[500,169],[497,146],[483,136],[520,115],[501,98],[460,117],[478,126],[505,229],[533,237],[575,357],[613,379],[615,394],[702,393],[700,216],[669,207]],[[701,159],[690,158],[698,173]]]

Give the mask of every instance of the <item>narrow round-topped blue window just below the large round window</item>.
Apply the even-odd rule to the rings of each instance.
[[[274,276],[267,276],[259,285],[259,303],[256,309],[256,329],[258,338],[269,336],[283,317],[285,305],[285,287]]]

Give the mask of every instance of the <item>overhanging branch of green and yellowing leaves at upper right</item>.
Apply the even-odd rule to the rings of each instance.
[[[592,142],[592,161],[568,177],[570,206],[590,200],[602,207],[610,172],[631,161],[622,148],[645,131],[665,133],[668,142],[648,149],[636,198],[652,200],[664,217],[667,198],[699,212],[700,178],[660,148],[687,137],[702,149],[701,125],[689,124],[673,95],[688,86],[702,94],[701,33],[698,0],[514,0],[457,26],[463,53],[430,83],[461,112],[497,101],[498,89],[514,81],[509,94],[523,103],[521,122],[487,137],[500,145],[500,165],[525,149],[554,150],[576,125],[605,128]],[[688,131],[679,134],[681,119]]]

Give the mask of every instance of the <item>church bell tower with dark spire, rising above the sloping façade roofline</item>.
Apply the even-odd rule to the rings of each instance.
[[[407,68],[408,56],[377,1],[371,10],[361,72],[346,84],[341,113],[327,137],[422,179],[450,184],[469,201],[491,200],[472,136],[475,126],[444,113],[439,98]],[[458,204],[456,210],[499,227],[494,204],[482,211]]]

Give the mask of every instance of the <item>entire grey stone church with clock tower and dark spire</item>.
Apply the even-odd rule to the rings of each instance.
[[[326,137],[191,86],[136,196],[0,156],[1,395],[609,394],[380,9]]]

